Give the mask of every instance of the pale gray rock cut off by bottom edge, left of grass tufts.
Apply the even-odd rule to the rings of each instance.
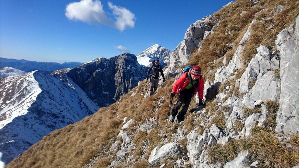
[[[239,153],[237,158],[230,162],[227,162],[224,168],[249,168],[248,151],[242,151],[241,153]]]

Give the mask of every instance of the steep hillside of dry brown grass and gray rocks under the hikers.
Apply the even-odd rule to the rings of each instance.
[[[299,1],[236,0],[196,21],[170,54],[167,82],[142,81],[109,107],[46,135],[19,167],[294,167],[299,165]],[[202,68],[185,120],[168,124],[184,65]],[[174,98],[173,104],[177,97]]]

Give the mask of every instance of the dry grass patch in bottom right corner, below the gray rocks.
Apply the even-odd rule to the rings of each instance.
[[[299,150],[288,148],[275,138],[274,132],[260,130],[248,139],[233,140],[222,146],[207,147],[208,161],[225,164],[232,161],[239,152],[248,150],[251,161],[258,161],[259,167],[292,167],[299,163]]]

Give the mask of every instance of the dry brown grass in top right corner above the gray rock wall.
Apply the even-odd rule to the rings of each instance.
[[[264,45],[270,49],[275,48],[275,39],[278,33],[294,24],[295,17],[299,13],[297,0],[289,1],[262,1],[258,5],[266,10],[260,12],[255,18],[257,22],[251,28],[251,35],[244,45],[241,58],[247,65],[257,53],[256,48]],[[272,9],[278,5],[285,5],[286,9],[274,16]],[[268,18],[268,19],[266,19]],[[271,27],[269,27],[271,26]]]

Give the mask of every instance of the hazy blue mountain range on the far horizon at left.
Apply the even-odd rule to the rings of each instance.
[[[48,71],[49,73],[62,69],[62,68],[74,68],[79,65],[82,65],[81,62],[65,62],[65,63],[57,63],[57,62],[36,62],[36,61],[28,61],[25,59],[7,59],[0,57],[0,68],[4,67],[12,67],[22,71],[31,72],[35,70]]]

